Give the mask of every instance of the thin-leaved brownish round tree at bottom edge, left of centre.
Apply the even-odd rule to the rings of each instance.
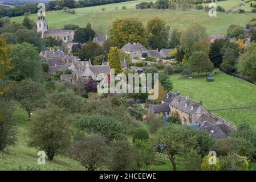
[[[107,154],[105,138],[96,134],[77,140],[70,150],[71,158],[80,162],[87,171],[103,168]]]

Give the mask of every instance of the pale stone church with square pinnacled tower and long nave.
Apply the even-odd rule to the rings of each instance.
[[[64,43],[72,42],[74,39],[74,30],[48,30],[47,20],[44,16],[38,17],[36,24],[37,32],[42,34],[42,38],[51,36],[56,40],[62,40]]]

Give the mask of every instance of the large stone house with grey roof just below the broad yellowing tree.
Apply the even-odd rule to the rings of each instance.
[[[148,54],[148,49],[139,43],[125,44],[124,47],[121,48],[121,51],[128,53],[130,55],[131,59],[133,59],[134,57],[141,58],[143,53]]]

